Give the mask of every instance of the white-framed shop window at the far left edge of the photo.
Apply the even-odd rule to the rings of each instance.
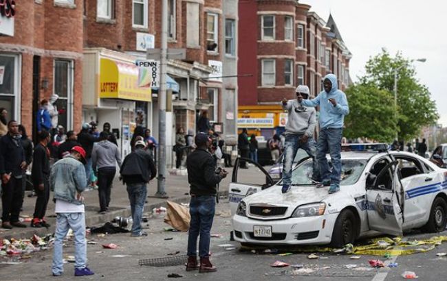
[[[8,111],[7,121],[18,120],[17,56],[0,55],[0,108]]]

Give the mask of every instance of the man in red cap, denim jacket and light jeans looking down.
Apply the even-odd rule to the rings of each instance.
[[[54,232],[53,276],[61,276],[63,273],[63,239],[70,228],[74,234],[74,276],[94,274],[87,267],[85,209],[84,197],[81,195],[87,187],[83,165],[85,162],[85,150],[80,146],[75,146],[69,156],[54,164],[50,174],[50,186],[54,191],[57,215],[56,232]]]

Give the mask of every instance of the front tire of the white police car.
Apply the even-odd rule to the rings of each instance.
[[[357,238],[357,219],[351,210],[342,210],[338,215],[332,232],[331,246],[336,248],[345,247],[346,244],[354,243]]]

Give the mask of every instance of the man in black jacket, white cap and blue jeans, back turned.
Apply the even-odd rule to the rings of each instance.
[[[135,149],[124,158],[122,162],[120,174],[122,181],[127,185],[127,194],[131,201],[132,214],[132,232],[131,236],[147,236],[141,226],[141,218],[146,201],[147,187],[146,184],[155,178],[157,169],[149,152],[144,150],[146,144],[144,140],[135,142]]]

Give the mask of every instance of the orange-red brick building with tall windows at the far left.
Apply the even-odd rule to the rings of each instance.
[[[36,130],[39,101],[55,93],[59,95],[56,105],[66,110],[58,123],[79,127],[82,1],[16,1],[12,10],[12,14],[0,14],[0,107],[8,110],[8,120],[23,123],[31,135]],[[10,25],[5,27],[7,21]]]

